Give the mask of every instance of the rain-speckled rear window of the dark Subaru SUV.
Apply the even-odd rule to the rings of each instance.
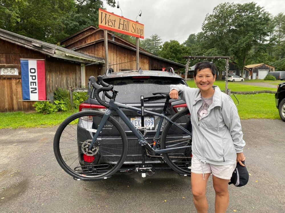
[[[184,81],[180,78],[153,76],[105,78],[104,81],[112,84],[114,89],[119,91],[116,97],[116,101],[119,103],[141,103],[141,95],[153,97],[152,93],[154,92],[169,91],[171,84],[184,84]],[[165,99],[156,100],[155,102],[165,102]]]

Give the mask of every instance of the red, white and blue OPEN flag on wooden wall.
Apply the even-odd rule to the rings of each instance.
[[[23,100],[46,100],[44,60],[21,59],[21,77]]]

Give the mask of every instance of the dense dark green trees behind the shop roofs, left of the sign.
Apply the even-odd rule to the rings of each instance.
[[[115,6],[114,0],[106,2]],[[0,0],[0,28],[55,44],[97,26],[102,6],[102,0]]]

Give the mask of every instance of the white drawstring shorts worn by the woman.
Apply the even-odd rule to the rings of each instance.
[[[235,167],[236,164],[218,166],[209,163],[203,163],[195,157],[192,157],[191,161],[191,172],[197,174],[212,173],[215,177],[227,180],[231,179]]]

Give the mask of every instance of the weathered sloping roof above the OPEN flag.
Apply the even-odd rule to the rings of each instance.
[[[22,36],[17,33],[13,33],[7,30],[3,30],[0,28],[0,38],[20,46],[41,52],[43,54],[55,57],[62,58],[70,61],[76,61],[81,63],[97,63],[104,64],[104,59],[90,57],[55,44],[50,44],[47,42],[43,42],[34,38],[29,38],[27,36]]]

